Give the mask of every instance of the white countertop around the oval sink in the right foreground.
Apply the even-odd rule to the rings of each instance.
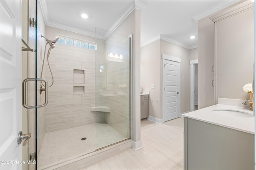
[[[230,115],[220,115],[214,113],[212,110],[216,109],[228,109],[235,111],[244,111],[246,113],[252,114],[249,108],[240,107],[240,106],[232,106],[232,105],[223,105],[217,104],[210,107],[205,107],[203,109],[199,109],[196,111],[192,111],[189,113],[185,113],[182,116],[188,117],[191,119],[195,119],[198,121],[203,121],[206,123],[211,123],[214,125],[219,125],[222,127],[232,128],[235,130],[240,130],[243,132],[255,133],[254,129],[254,117],[235,117]]]

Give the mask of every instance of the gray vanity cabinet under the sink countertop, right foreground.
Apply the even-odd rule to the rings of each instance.
[[[254,134],[185,117],[184,170],[254,170]]]

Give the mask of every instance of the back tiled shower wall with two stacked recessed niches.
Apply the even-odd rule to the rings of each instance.
[[[55,38],[55,37],[54,37]],[[47,48],[48,49],[48,48]],[[95,51],[56,43],[49,63],[54,84],[49,87],[46,107],[46,132],[87,125],[95,122],[94,80]],[[50,70],[44,77],[52,83]]]

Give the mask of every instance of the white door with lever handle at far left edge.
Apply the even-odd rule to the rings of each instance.
[[[21,170],[21,1],[0,0],[0,169]]]

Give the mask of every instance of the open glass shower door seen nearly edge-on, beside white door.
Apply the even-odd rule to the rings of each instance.
[[[31,22],[30,22],[31,20]],[[22,0],[22,133],[31,134],[22,142],[22,169],[36,168],[36,0]],[[30,109],[28,109],[30,108]]]

